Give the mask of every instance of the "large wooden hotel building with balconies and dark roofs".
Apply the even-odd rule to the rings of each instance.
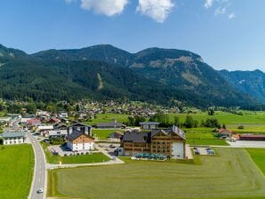
[[[185,158],[185,133],[176,126],[167,130],[149,132],[126,131],[121,139],[123,155],[140,153],[167,155],[173,159]]]

